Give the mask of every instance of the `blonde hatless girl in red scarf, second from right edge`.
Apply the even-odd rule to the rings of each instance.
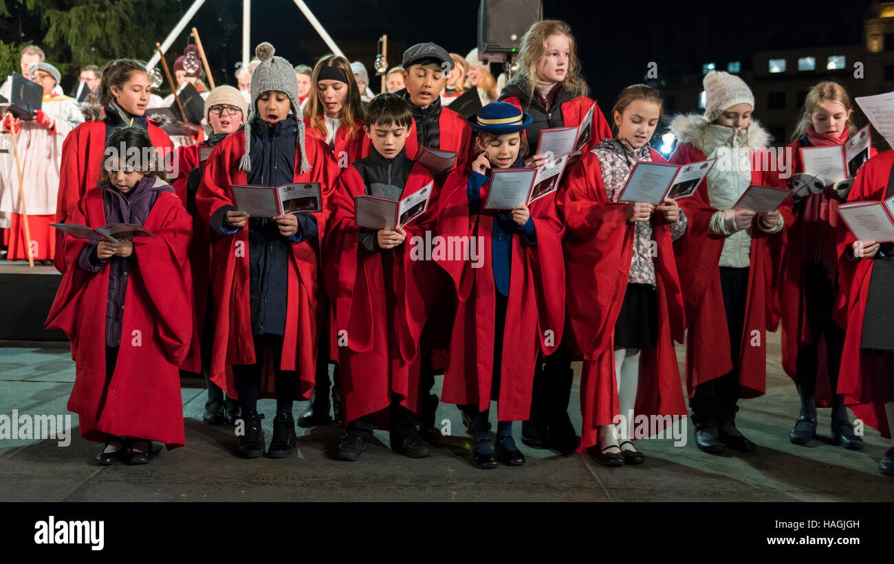
[[[850,97],[844,87],[827,81],[811,88],[795,139],[789,144],[792,174],[805,172],[802,147],[840,147],[848,141],[856,132],[850,117]],[[781,261],[782,368],[795,380],[801,397],[801,411],[789,440],[807,444],[816,433],[816,408],[831,407],[832,439],[856,450],[863,447],[863,439],[854,434],[844,395],[837,392],[845,333],[832,318],[839,289],[841,199],[826,186],[820,194],[808,193],[794,203],[794,222]]]

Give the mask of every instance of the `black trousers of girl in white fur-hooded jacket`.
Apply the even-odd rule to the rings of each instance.
[[[745,304],[748,298],[748,268],[720,267],[723,309],[730,332],[732,369],[721,377],[696,386],[689,400],[692,419],[696,426],[718,425],[736,418],[738,411],[739,354],[742,351],[742,331],[745,327]]]

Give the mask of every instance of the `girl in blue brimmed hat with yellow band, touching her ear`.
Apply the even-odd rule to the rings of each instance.
[[[481,153],[471,170],[447,178],[438,234],[481,241],[477,253],[484,263],[471,256],[439,261],[459,297],[441,398],[458,404],[470,421],[472,463],[491,469],[525,463],[512,421],[530,414],[538,353],[561,343],[565,270],[554,191],[507,210],[485,207],[492,171],[521,168],[527,149],[521,132],[531,117],[494,102],[468,121]],[[488,422],[492,399],[498,402],[496,452]]]

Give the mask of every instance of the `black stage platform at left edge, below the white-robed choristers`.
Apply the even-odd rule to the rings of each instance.
[[[0,261],[0,340],[66,341],[44,328],[62,275],[55,267],[30,268],[28,261]]]

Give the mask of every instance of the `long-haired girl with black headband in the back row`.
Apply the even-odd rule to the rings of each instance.
[[[323,139],[333,151],[339,168],[369,154],[369,137],[363,133],[360,91],[350,62],[326,54],[314,66],[304,123],[311,135]]]

